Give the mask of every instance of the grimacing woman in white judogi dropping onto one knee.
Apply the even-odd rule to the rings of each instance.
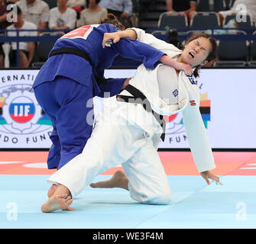
[[[191,37],[182,51],[151,34],[145,34],[144,30],[134,28],[129,31],[138,40],[164,50],[168,56],[177,59],[177,62],[196,67],[195,75],[198,75],[199,65],[205,65],[216,57],[215,40],[207,34]],[[207,182],[209,178],[219,181],[210,172],[215,168],[215,163],[199,113],[199,88],[194,75],[185,75],[183,71],[179,72],[162,64],[154,70],[141,65],[128,87],[142,92],[150,108],[145,109],[139,101],[130,103],[106,99],[106,106],[96,117],[92,136],[83,152],[48,178],[49,183],[57,184],[57,189],[42,205],[43,212],[73,210],[70,207],[72,197],[89,185],[96,175],[120,164],[126,176],[114,175],[111,184],[103,182],[102,187],[128,189],[131,197],[141,203],[169,204],[170,186],[157,153],[163,129],[152,110],[163,116],[182,112],[198,171]],[[118,98],[134,96],[133,89],[124,90]],[[92,187],[101,187],[100,185],[99,182],[92,184]]]

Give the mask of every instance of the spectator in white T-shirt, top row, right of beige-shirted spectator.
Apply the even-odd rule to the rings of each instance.
[[[76,11],[67,8],[66,3],[67,0],[57,0],[57,7],[50,9],[50,29],[66,30],[76,27]]]

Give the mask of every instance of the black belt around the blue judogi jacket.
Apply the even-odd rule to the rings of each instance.
[[[86,59],[89,62],[89,64],[92,66],[92,60],[89,57],[89,55],[86,52],[79,50],[77,48],[73,48],[73,47],[62,47],[62,48],[53,50],[50,53],[49,58],[50,58],[50,56],[60,55],[60,54],[74,54],[76,56],[80,56],[83,59]],[[108,84],[107,79],[105,79],[104,77],[95,76],[95,79],[96,79],[96,82],[98,85],[107,85]]]

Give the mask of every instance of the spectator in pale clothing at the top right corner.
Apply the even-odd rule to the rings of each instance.
[[[251,14],[252,21],[256,23],[256,1],[255,0],[235,0],[232,8],[227,11],[219,11],[219,21],[221,26],[224,24],[223,21],[227,15],[239,14]]]

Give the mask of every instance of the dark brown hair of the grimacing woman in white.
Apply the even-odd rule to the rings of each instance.
[[[198,39],[199,37],[205,37],[212,44],[212,50],[205,60],[205,61],[208,61],[206,66],[212,66],[212,64],[218,59],[218,45],[216,43],[216,40],[213,37],[211,37],[209,34],[206,34],[206,33],[194,34],[192,37],[186,40],[186,44],[190,43],[193,40]],[[201,65],[196,66],[196,69],[194,70],[195,77],[199,76],[200,68],[201,68]]]

